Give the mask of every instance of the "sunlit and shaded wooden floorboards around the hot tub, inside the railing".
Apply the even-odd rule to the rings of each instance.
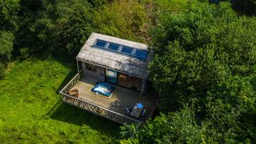
[[[96,95],[94,92],[91,92],[94,84],[95,79],[85,76],[82,77],[82,79],[80,79],[72,88],[78,90],[78,98],[81,100],[85,100],[86,102],[90,102],[93,105],[98,105],[108,110],[118,112],[122,115],[125,115],[125,107],[133,107],[137,102],[140,102],[146,108],[144,119],[147,119],[150,116],[151,110],[153,109],[156,102],[156,97],[153,97],[152,95],[142,95],[140,92],[128,90],[124,87],[119,87],[116,85],[115,91],[111,97]]]

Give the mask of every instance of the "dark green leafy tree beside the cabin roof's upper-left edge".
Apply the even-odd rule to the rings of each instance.
[[[65,3],[64,3],[65,4]],[[90,21],[93,21],[93,15],[90,11],[90,5],[87,2],[73,2],[69,5],[58,4],[60,10],[67,6],[65,11],[57,19],[57,25],[61,25],[59,34],[59,47],[65,47],[65,55],[69,54],[75,57],[80,51],[87,38],[93,32],[93,27]],[[60,11],[56,11],[59,14]]]

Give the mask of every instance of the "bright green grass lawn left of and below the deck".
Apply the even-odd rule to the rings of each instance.
[[[64,104],[74,71],[54,59],[14,62],[0,80],[0,143],[115,143],[119,126]]]

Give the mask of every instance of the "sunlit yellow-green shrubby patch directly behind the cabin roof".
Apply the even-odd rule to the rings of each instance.
[[[124,39],[146,42],[149,19],[146,8],[138,0],[114,1],[95,11],[98,32]]]

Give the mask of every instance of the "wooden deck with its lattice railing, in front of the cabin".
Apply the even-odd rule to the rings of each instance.
[[[72,79],[73,81],[75,80],[74,78]],[[119,87],[116,85],[114,85],[115,90],[111,97],[96,95],[94,92],[91,92],[91,89],[93,88],[93,85],[96,82],[95,77],[85,75],[83,77],[78,77],[77,80],[75,80],[75,82],[73,82],[72,80],[70,81],[71,83],[69,82],[69,84],[66,85],[66,89],[64,88],[62,92],[60,92],[62,94],[63,101],[71,104],[79,101],[78,103],[75,104],[75,106],[77,107],[80,107],[80,105],[82,105],[80,104],[80,102],[85,102],[86,103],[85,105],[89,105],[89,106],[93,105],[93,107],[98,107],[99,109],[111,112],[115,116],[108,117],[108,115],[105,115],[102,112],[99,113],[97,110],[94,110],[94,109],[92,110],[92,108],[80,107],[90,112],[93,112],[96,115],[107,117],[108,119],[114,120],[118,123],[123,123],[123,122],[126,123],[126,121],[143,123],[149,117],[151,117],[153,109],[156,105],[156,97],[154,97],[154,95],[148,95],[148,94],[142,95],[140,92],[128,90],[124,87]],[[74,98],[75,101],[74,100],[70,101],[70,98],[71,98],[70,96],[67,98],[67,95],[66,95],[67,90],[70,90],[70,89],[78,90],[79,97],[77,97],[76,100]],[[63,96],[65,96],[66,98]],[[127,115],[125,115],[125,107],[133,107],[136,103],[142,103],[146,108],[146,114],[144,115],[144,117],[141,117],[139,119],[136,117],[128,117]],[[115,118],[116,116],[118,116],[119,118],[116,119]],[[123,119],[127,119],[127,120],[123,120]]]

